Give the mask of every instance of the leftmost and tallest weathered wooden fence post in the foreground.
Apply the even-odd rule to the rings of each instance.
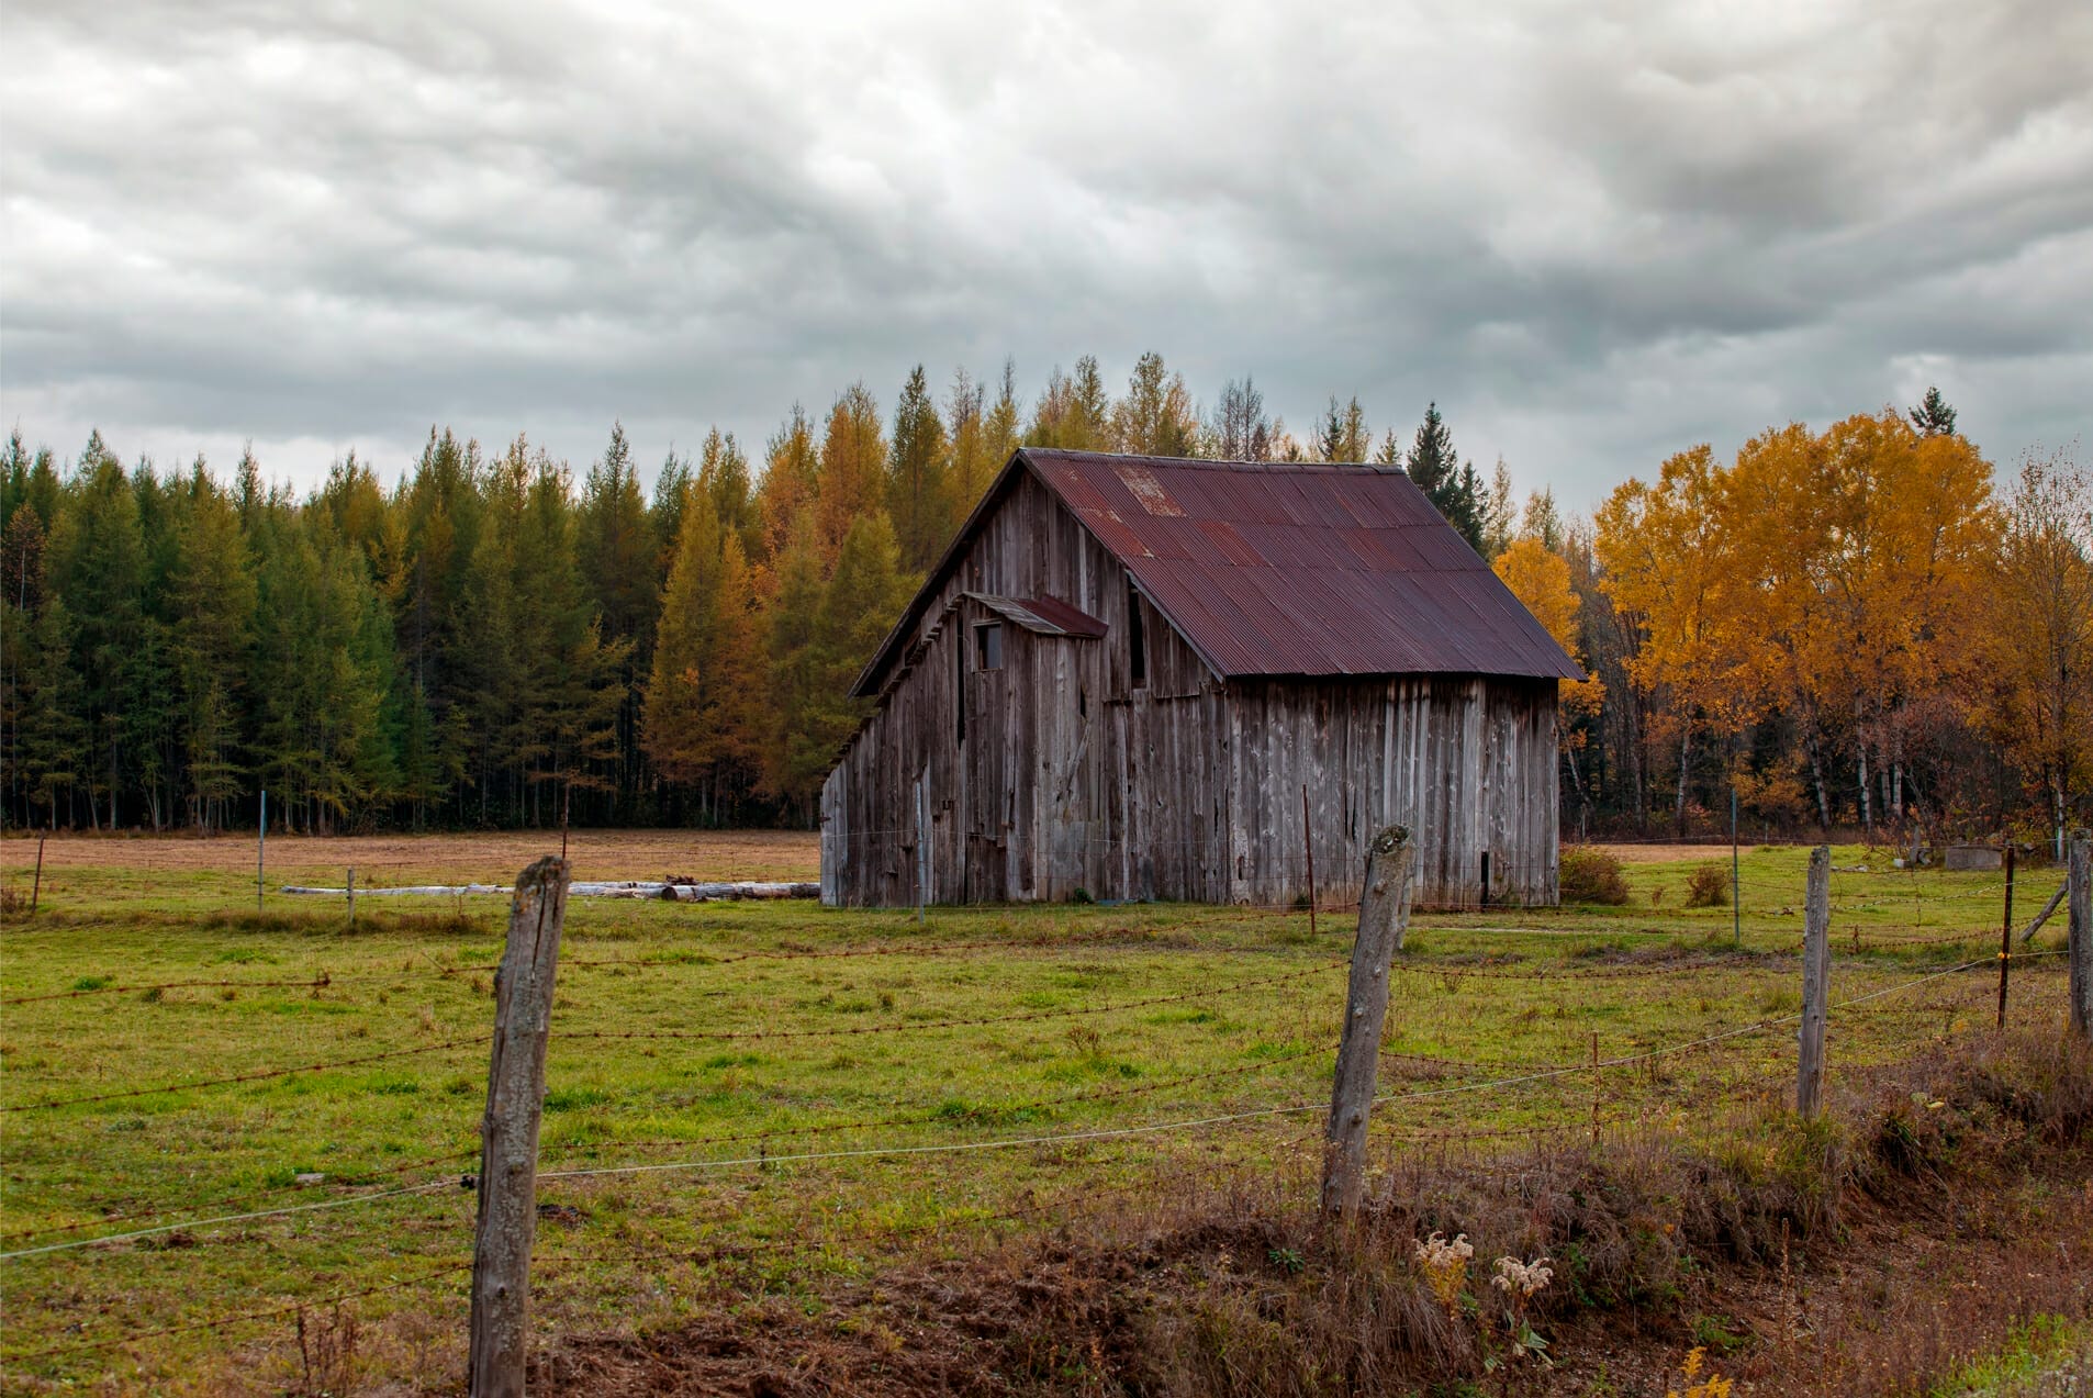
[[[494,1059],[479,1128],[479,1226],[473,1235],[471,1398],[523,1394],[544,1044],[565,917],[567,860],[542,858],[517,877],[509,944],[494,975]]]

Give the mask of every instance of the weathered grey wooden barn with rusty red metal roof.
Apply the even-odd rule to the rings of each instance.
[[[1394,469],[1017,452],[854,686],[829,904],[1553,904],[1576,663]]]

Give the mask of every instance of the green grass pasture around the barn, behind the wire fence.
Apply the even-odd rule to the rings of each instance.
[[[33,850],[0,845],[8,887],[27,887]],[[364,885],[511,881],[542,850],[270,841],[268,883],[339,883],[352,862]],[[1381,1162],[1589,1132],[1595,1115],[1695,1130],[1792,1086],[1804,852],[1743,856],[1741,948],[1727,906],[1683,906],[1714,856],[1666,854],[1628,864],[1622,908],[1417,919]],[[584,879],[810,877],[816,856],[804,835],[586,833],[573,862]],[[1833,864],[1831,994],[1852,1002],[1831,1017],[1838,1092],[1844,1067],[1988,1023],[1990,971],[1940,971],[1997,948],[2001,875],[1892,871],[1859,848]],[[375,1373],[463,1371],[460,1174],[477,1159],[507,904],[370,898],[352,931],[331,900],[272,892],[257,912],[253,877],[251,841],[52,841],[40,912],[6,919],[8,1388],[283,1388],[301,1362],[295,1308],[337,1295],[354,1295]],[[2055,883],[2024,873],[2022,921]],[[1262,908],[971,908],[919,925],[578,900],[534,1323],[632,1333],[756,1298],[818,1306],[825,1281],[896,1252],[973,1247],[1178,1178],[1308,1178],[1350,931],[1342,910],[1310,935],[1306,912]],[[2024,963],[2016,1021],[2057,1019],[2062,1002],[2060,959]],[[285,1072],[320,1063],[337,1067]],[[268,1210],[299,1212],[228,1218]],[[119,1241],[75,1245],[88,1239]],[[220,1325],[249,1312],[276,1314]]]

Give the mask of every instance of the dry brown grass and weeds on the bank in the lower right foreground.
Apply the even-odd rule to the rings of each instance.
[[[2089,1134],[2093,1055],[2047,1032],[1993,1036],[1871,1076],[1836,1122],[1762,1113],[1700,1143],[1406,1157],[1350,1226],[1300,1180],[1093,1201],[1044,1237],[839,1285],[818,1314],[745,1302],[645,1339],[576,1337],[538,1379],[601,1394],[1306,1398],[1459,1379],[1626,1394],[1664,1392],[1708,1346],[1739,1392],[1911,1392],[2030,1314],[2093,1314]],[[1476,1243],[1476,1300],[1455,1312],[1413,1260],[1432,1231]],[[1555,1260],[1534,1302],[1551,1369],[1484,1373],[1507,1354],[1480,1323],[1499,1254]]]

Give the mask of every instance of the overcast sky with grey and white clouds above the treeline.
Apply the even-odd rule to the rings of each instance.
[[[1162,352],[1589,509],[1940,385],[2093,437],[2093,4],[0,8],[0,427],[576,471]],[[2076,442],[2076,448],[2074,448]]]

